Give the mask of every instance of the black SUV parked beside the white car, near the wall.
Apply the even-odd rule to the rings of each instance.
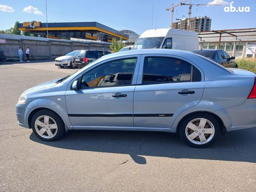
[[[81,50],[80,53],[74,58],[73,65],[82,68],[95,61],[97,58],[107,54],[110,54],[110,52],[106,50]]]

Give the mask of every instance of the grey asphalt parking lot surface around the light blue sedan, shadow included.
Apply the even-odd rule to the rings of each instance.
[[[69,131],[45,142],[18,125],[23,91],[76,70],[0,65],[0,191],[255,191],[256,128],[195,149],[176,134],[135,131]]]

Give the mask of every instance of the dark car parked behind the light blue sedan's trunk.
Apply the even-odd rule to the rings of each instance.
[[[224,66],[224,67],[231,67],[231,68],[238,68],[237,63],[234,61],[236,57],[229,56],[227,52],[223,50],[194,50],[193,53],[202,55],[204,57],[210,58],[216,63]]]

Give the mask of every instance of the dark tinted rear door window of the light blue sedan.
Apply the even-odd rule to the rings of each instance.
[[[191,81],[191,70],[191,64],[177,58],[145,57],[142,84]]]

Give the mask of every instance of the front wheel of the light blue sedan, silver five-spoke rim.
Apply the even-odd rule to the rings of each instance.
[[[33,133],[41,140],[55,141],[65,135],[65,125],[51,110],[40,110],[31,119]]]

